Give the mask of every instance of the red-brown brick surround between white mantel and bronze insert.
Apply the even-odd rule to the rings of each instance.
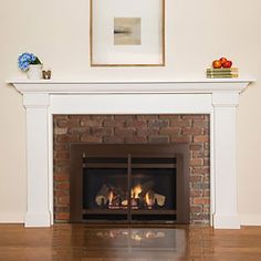
[[[70,220],[70,144],[189,143],[190,222],[210,220],[209,115],[54,115],[54,220]]]

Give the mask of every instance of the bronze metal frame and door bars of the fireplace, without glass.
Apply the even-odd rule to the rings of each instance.
[[[177,163],[171,167],[177,169],[177,208],[175,210],[154,209],[153,215],[176,216],[174,220],[146,220],[144,223],[189,223],[189,146],[188,144],[71,144],[71,186],[70,186],[70,215],[71,222],[85,222],[83,213],[92,213],[92,210],[83,209],[83,167],[85,158],[92,157],[121,157],[127,158],[127,184],[128,184],[128,202],[130,202],[132,187],[132,157],[150,157],[150,158],[176,158]],[[150,165],[150,167],[153,164]],[[137,167],[137,166],[136,166]],[[142,166],[138,167],[148,167]],[[161,164],[163,168],[170,167],[169,164]],[[96,213],[123,213],[127,219],[122,223],[140,223],[142,221],[132,220],[132,215],[146,215],[147,210],[133,210],[130,203],[127,209],[118,210],[95,210]],[[149,212],[152,215],[152,211]],[[95,221],[94,221],[95,222]],[[106,223],[106,221],[102,221]],[[97,221],[101,223],[101,221]]]

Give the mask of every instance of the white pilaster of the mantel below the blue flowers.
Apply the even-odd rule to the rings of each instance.
[[[49,227],[48,94],[24,94],[27,108],[28,210],[25,227]]]

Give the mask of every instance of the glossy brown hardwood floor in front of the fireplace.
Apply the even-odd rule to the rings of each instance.
[[[0,225],[0,261],[260,261],[261,227],[212,230]]]

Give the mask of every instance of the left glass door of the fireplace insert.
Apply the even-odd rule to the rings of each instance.
[[[83,158],[83,220],[128,220],[126,157]]]

